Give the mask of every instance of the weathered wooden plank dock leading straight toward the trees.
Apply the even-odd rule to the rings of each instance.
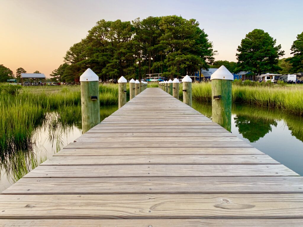
[[[303,226],[302,192],[297,173],[148,88],[3,191],[0,226]]]

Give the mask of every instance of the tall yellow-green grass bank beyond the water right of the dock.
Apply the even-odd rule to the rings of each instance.
[[[180,84],[181,85],[181,84]],[[180,86],[180,97],[182,97]],[[243,86],[233,84],[232,102],[274,107],[298,116],[303,115],[303,86]],[[192,98],[211,103],[211,83],[193,83]]]

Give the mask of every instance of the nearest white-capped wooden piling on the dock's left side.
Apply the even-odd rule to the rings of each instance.
[[[80,76],[82,133],[100,123],[99,77],[88,68]]]

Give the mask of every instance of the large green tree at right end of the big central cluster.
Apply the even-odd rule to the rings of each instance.
[[[165,46],[167,53],[164,61],[168,67],[166,74],[171,79],[174,75],[193,75],[200,67],[207,68],[208,60],[213,61],[212,44],[195,19],[165,16],[159,25],[163,30],[160,43]]]

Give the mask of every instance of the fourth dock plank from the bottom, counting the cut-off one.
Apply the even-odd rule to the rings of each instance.
[[[283,165],[38,166],[24,177],[299,176]]]

